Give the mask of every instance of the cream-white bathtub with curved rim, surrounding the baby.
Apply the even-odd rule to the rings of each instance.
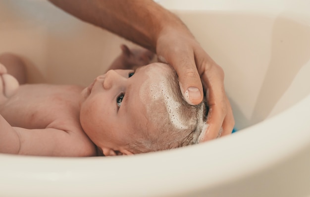
[[[0,154],[1,197],[310,196],[310,1],[159,2],[223,67],[240,131],[129,157]],[[87,85],[123,42],[46,1],[0,0],[0,52],[21,55],[31,82]]]

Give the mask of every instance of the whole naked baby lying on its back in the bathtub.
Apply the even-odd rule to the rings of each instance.
[[[135,54],[126,46],[122,50],[110,68],[145,62],[145,53]],[[20,64],[14,65],[17,70],[23,69]],[[176,72],[167,64],[108,70],[87,88],[18,86],[8,74],[12,67],[0,63],[0,153],[129,155],[197,144],[207,129],[206,102],[188,104]],[[14,71],[22,81],[18,76],[23,75]]]

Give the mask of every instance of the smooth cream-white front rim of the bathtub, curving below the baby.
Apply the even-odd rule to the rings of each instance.
[[[82,188],[77,189],[75,186],[76,184],[83,184],[88,189],[91,189],[91,191],[97,192],[94,194],[113,194],[119,196],[132,194],[132,196],[143,196],[143,192],[139,192],[140,186],[135,185],[135,182],[130,182],[130,178],[133,176],[138,178],[138,180],[144,179],[144,189],[146,191],[152,191],[154,196],[175,195],[176,193],[182,194],[192,190],[219,186],[223,183],[238,180],[241,177],[251,176],[253,173],[257,173],[276,163],[282,162],[286,158],[304,149],[310,143],[310,123],[304,121],[306,120],[306,116],[300,118],[300,116],[296,116],[295,114],[306,114],[307,109],[309,109],[309,103],[310,95],[278,115],[243,129],[229,137],[224,137],[198,146],[179,148],[170,151],[117,158],[54,158],[0,154],[0,160],[2,161],[2,168],[0,169],[2,178],[0,178],[0,183],[1,185],[5,184],[7,186],[4,190],[0,191],[0,194],[11,194],[12,191],[10,189],[12,188],[10,188],[10,185],[18,184],[18,194],[20,194],[20,191],[33,193],[29,188],[35,185],[36,188],[40,186],[40,191],[36,190],[36,192],[33,193],[35,196],[46,194],[46,191],[51,190],[51,188],[53,188],[53,190],[50,191],[52,192],[51,194],[60,195],[59,191],[63,192],[64,190],[63,185],[68,185],[69,182],[73,182],[75,184],[70,184],[65,188],[65,191],[70,195],[87,195],[89,190],[85,191]],[[261,146],[261,142],[263,141],[259,141],[259,139],[253,140],[253,136],[258,138],[260,136],[261,140],[261,137],[267,134],[268,131],[262,130],[263,128],[268,128],[268,126],[274,125],[274,123],[281,124],[284,120],[291,120],[291,124],[278,127],[278,130],[282,131],[282,136],[278,136],[276,132],[269,133],[269,138],[267,140],[265,139],[263,147]],[[295,135],[292,136],[291,128],[296,124],[298,124],[298,129],[295,130]],[[252,139],[246,143],[246,147],[233,146],[238,142],[241,142],[239,145],[242,145],[242,140],[244,138],[248,139],[249,136],[252,136]],[[288,140],[288,136],[292,136],[293,139],[290,138]],[[274,140],[276,140],[279,146],[280,144],[285,144],[285,146],[280,146],[282,149],[273,149]],[[226,152],[227,150],[223,148],[223,145],[228,148],[234,148],[233,151],[230,149],[230,153],[233,152],[234,155],[226,157],[227,155],[216,155],[208,151],[210,149],[217,149],[220,153]],[[204,150],[207,151],[205,152]],[[251,152],[255,152],[256,154],[251,154]],[[216,161],[201,159],[200,155],[202,153],[205,154],[205,158],[213,157],[216,158]],[[184,155],[187,155],[185,162]],[[245,157],[244,155],[247,156]],[[238,160],[231,160],[232,158],[238,158]],[[136,162],[142,162],[145,165],[152,166],[152,163],[158,160],[169,161],[174,164],[181,163],[182,161],[184,163],[174,168],[171,163],[166,163],[165,165],[158,163],[158,166],[153,166],[153,168],[155,168],[154,171],[149,171],[150,168],[148,166],[135,166],[135,164],[137,164]],[[196,163],[195,160],[201,163]],[[233,162],[227,162],[229,160]],[[123,162],[126,162],[127,165],[130,166],[131,171],[120,169],[122,167],[120,163]],[[22,165],[20,165],[21,163]],[[11,166],[12,168],[7,170],[5,166]],[[19,168],[14,168],[13,166]],[[49,168],[46,168],[47,166],[49,166]],[[74,168],[72,169],[71,166],[74,166]],[[90,167],[91,170],[85,169],[85,166]],[[162,168],[164,166],[166,166],[166,169]],[[209,168],[204,166],[208,166]],[[220,167],[222,170],[214,172],[213,169],[216,167]],[[113,168],[126,178],[121,181],[113,179],[113,172],[109,170]],[[187,172],[182,176],[175,177],[178,171],[187,168],[194,170],[192,170],[191,173]],[[97,169],[103,170],[97,171]],[[200,173],[202,171],[203,173]],[[135,174],[136,172],[140,174]],[[146,174],[149,176],[144,177]],[[202,174],[204,176],[202,176]],[[160,175],[169,178],[163,180],[158,178]],[[185,175],[188,180],[182,181]],[[108,183],[109,187],[106,188],[98,184],[99,180],[96,179],[98,177],[108,177],[106,180],[103,179],[103,183]],[[17,181],[16,178],[18,178]],[[170,181],[174,181],[173,184],[171,184]],[[192,187],[186,187],[189,184]],[[117,190],[116,186],[118,185],[126,185],[126,187],[123,187],[122,190]],[[167,186],[169,187],[167,188]]]

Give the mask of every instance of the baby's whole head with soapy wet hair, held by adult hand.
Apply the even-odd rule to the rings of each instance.
[[[104,155],[135,154],[197,144],[207,105],[182,97],[176,72],[153,63],[110,70],[83,91],[81,125]]]

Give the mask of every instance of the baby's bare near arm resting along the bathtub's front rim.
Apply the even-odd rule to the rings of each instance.
[[[38,156],[95,156],[87,137],[60,129],[12,127],[0,115],[0,153]]]

